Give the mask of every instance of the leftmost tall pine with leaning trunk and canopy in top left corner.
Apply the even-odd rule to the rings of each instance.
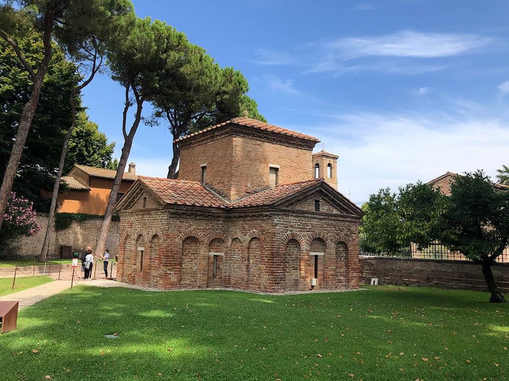
[[[117,2],[115,0],[18,0],[16,3],[17,6],[13,6],[13,1],[6,0],[0,4],[0,38],[14,50],[23,69],[28,73],[32,86],[31,94],[20,114],[16,139],[0,187],[0,227],[26,138],[38,107],[44,78],[53,56],[52,36],[59,36],[62,41],[69,43],[66,44],[68,46],[79,45],[83,36],[89,36],[87,32],[90,27],[97,20],[106,19]],[[40,61],[27,58],[19,43],[19,39],[32,28],[40,34],[43,42]]]

